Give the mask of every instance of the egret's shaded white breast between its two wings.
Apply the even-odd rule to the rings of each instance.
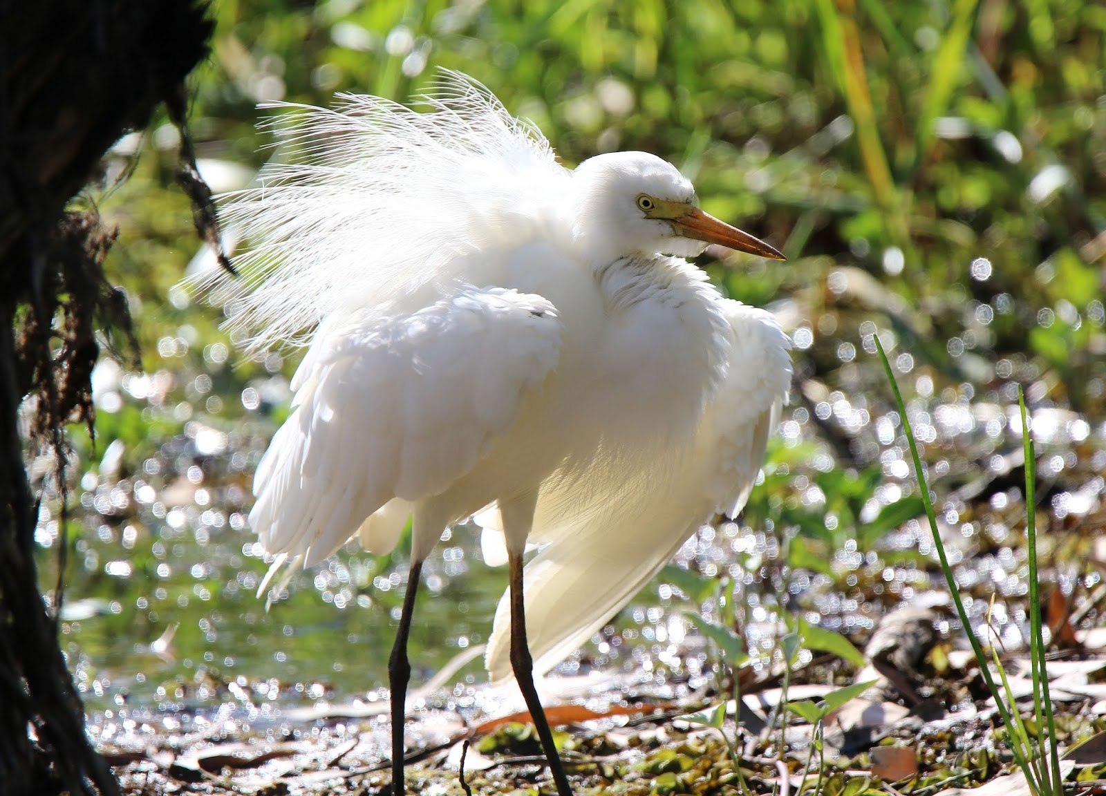
[[[644,256],[592,269],[544,241],[503,264],[501,284],[556,307],[562,345],[511,430],[450,491],[480,495],[474,506],[458,496],[465,511],[550,475],[596,482],[657,472],[691,447],[724,378],[730,338],[721,296],[699,269]]]

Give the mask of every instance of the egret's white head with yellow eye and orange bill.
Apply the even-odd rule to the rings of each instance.
[[[596,155],[573,175],[577,241],[594,261],[628,254],[698,256],[710,243],[772,260],[768,243],[703,212],[675,166],[640,151]]]

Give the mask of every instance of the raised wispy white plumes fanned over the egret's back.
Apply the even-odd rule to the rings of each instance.
[[[251,352],[304,345],[336,311],[472,281],[469,255],[525,242],[550,218],[535,202],[564,190],[549,142],[465,75],[444,71],[417,109],[338,96],[333,109],[265,105],[283,112],[263,124],[282,161],[262,169],[260,187],[221,198],[225,224],[244,230],[250,249],[238,281],[198,281],[230,283],[228,325]]]

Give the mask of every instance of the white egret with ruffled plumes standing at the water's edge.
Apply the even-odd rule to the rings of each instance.
[[[741,509],[790,384],[771,315],[680,258],[708,243],[783,258],[700,210],[658,157],[562,167],[462,75],[418,111],[343,100],[281,105],[288,159],[225,209],[252,241],[231,326],[251,352],[307,345],[250,523],[275,569],[352,537],[385,553],[414,517],[388,666],[394,794],[422,562],[473,515],[501,536],[489,671],[513,671],[567,796],[531,653],[555,666],[697,527]],[[528,543],[542,547],[524,570]]]

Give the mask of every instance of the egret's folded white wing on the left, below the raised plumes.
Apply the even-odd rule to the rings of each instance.
[[[358,528],[395,544],[393,509],[442,492],[489,451],[556,367],[561,331],[549,301],[498,287],[330,318],[254,475],[250,523],[264,548],[313,566]]]

